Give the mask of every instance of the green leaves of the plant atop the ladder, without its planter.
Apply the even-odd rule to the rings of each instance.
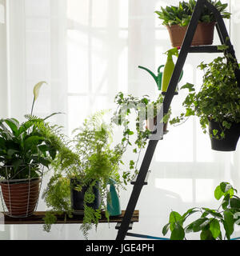
[[[222,2],[217,0],[208,1],[222,14],[222,18],[230,18],[230,13],[226,12],[227,4],[222,4]],[[195,0],[190,0],[189,2],[183,1],[179,2],[178,6],[166,6],[166,8],[161,7],[161,10],[157,10],[155,13],[158,14],[158,18],[162,20],[162,25],[188,26],[195,6]],[[215,22],[214,14],[206,8],[206,6],[204,6],[204,9],[202,10],[199,22]]]

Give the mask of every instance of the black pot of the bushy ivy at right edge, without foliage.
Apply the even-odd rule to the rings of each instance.
[[[219,122],[209,122],[209,132],[213,134],[213,130],[218,130],[219,134],[224,130],[225,138],[216,139],[210,138],[212,150],[217,151],[235,151],[238,145],[240,136],[240,123],[232,123],[230,129],[224,129]]]

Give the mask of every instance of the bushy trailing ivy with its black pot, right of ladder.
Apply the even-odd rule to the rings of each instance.
[[[190,83],[182,86],[190,92],[183,102],[186,112],[170,122],[198,116],[204,133],[209,126],[213,150],[234,151],[240,135],[240,88],[234,74],[238,64],[226,54],[199,68],[205,70],[201,89],[196,92]]]

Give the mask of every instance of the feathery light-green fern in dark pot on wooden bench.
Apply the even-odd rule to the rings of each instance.
[[[64,165],[58,158],[55,160],[54,176],[43,193],[46,205],[51,208],[45,218],[46,231],[56,221],[56,212],[70,218],[73,214],[83,214],[81,230],[85,238],[93,225],[98,226],[102,210],[109,218],[108,185],[111,179],[115,186],[122,186],[119,168],[124,148],[122,144],[112,145],[112,126],[102,121],[102,115],[103,112],[86,118],[74,130],[74,138],[66,148],[69,152],[63,155]]]

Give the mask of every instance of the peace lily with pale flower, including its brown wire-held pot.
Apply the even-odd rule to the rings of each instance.
[[[44,82],[34,86],[34,102]],[[47,118],[26,115],[26,122],[16,118],[0,120],[0,186],[6,214],[27,217],[33,214],[42,182],[43,167],[49,167],[58,147],[54,128]]]

